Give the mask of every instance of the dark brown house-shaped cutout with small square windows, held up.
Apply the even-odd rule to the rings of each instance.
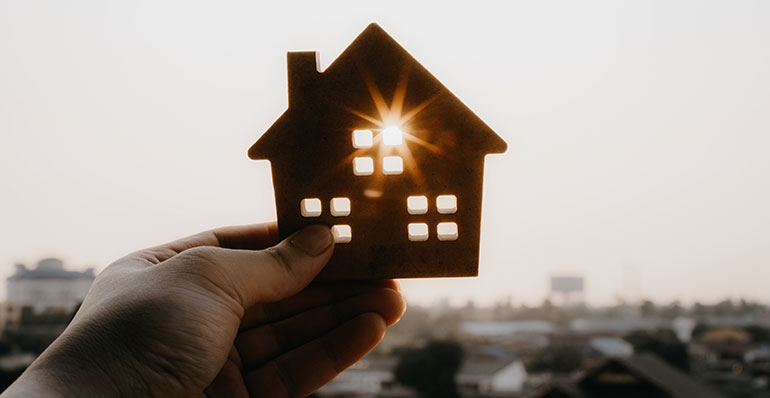
[[[281,238],[331,226],[319,279],[478,275],[484,157],[506,143],[376,24],[323,72],[287,61],[289,109],[249,149]]]

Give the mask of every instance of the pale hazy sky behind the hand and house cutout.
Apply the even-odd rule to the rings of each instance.
[[[0,277],[274,220],[285,53],[377,22],[509,145],[480,276],[410,302],[770,301],[770,2],[271,3],[0,0]]]

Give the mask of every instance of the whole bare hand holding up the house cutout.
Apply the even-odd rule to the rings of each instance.
[[[311,394],[405,303],[392,280],[311,283],[334,249],[327,227],[276,237],[275,224],[228,227],[116,261],[3,398]]]

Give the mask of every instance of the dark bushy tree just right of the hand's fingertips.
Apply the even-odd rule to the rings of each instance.
[[[463,349],[452,340],[433,340],[423,348],[399,353],[394,376],[399,383],[417,390],[423,398],[457,398],[455,374],[463,360]]]

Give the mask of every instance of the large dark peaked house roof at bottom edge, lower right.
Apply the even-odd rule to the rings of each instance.
[[[610,358],[569,382],[555,382],[528,398],[718,398],[721,395],[653,354]]]

